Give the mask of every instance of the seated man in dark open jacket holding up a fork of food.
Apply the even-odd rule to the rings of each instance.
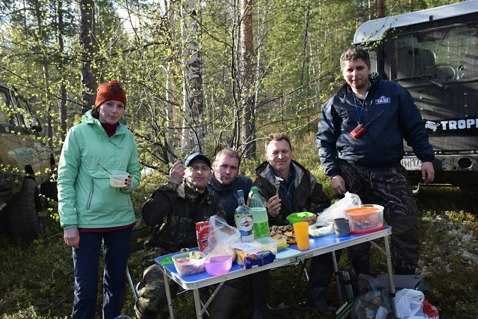
[[[299,163],[292,161],[292,146],[289,137],[275,133],[265,139],[265,159],[257,168],[257,179],[252,186],[267,203],[269,225],[288,224],[288,215],[296,212],[320,213],[330,206],[330,200],[322,191],[322,185]],[[275,181],[279,181],[276,189]],[[276,195],[278,193],[278,195]],[[337,251],[340,258],[340,251]],[[319,312],[335,311],[322,298],[334,272],[332,254],[312,258],[306,306]],[[267,318],[268,273],[251,275],[250,285],[253,296],[253,319]]]

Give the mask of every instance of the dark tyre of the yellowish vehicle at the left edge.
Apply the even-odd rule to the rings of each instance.
[[[38,213],[43,211],[43,197],[36,182],[25,179],[20,194],[8,202],[8,219],[13,235],[21,239],[34,238],[45,226],[45,217]]]

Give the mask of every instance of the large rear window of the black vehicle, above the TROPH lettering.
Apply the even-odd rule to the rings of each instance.
[[[394,80],[407,86],[477,78],[477,31],[477,26],[461,26],[397,38]]]

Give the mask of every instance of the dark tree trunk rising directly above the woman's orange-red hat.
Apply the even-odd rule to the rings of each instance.
[[[96,69],[91,60],[96,53],[95,46],[95,1],[79,0],[80,22],[79,42],[82,56],[81,62],[81,89],[82,89],[82,113],[85,113],[95,105],[96,99]]]

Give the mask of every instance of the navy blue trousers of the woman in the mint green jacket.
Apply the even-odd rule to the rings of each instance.
[[[113,319],[120,315],[126,290],[126,264],[132,229],[133,227],[114,231],[80,233],[80,248],[73,248],[75,267],[73,319],[96,317],[98,264],[102,242],[105,254],[103,319]]]

